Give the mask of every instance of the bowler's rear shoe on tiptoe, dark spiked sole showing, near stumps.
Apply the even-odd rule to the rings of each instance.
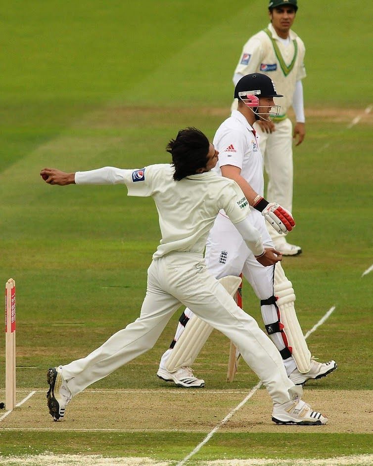
[[[47,405],[53,421],[60,421],[65,415],[67,404],[72,398],[66,381],[62,377],[62,366],[51,367],[47,372],[49,390],[47,393]]]

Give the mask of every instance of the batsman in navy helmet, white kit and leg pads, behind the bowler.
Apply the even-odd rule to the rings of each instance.
[[[271,78],[251,73],[235,86],[234,97],[238,110],[218,128],[213,144],[220,152],[216,171],[237,182],[250,204],[252,224],[259,230],[265,248],[274,248],[266,228],[266,221],[278,234],[291,231],[294,220],[289,212],[263,198],[264,178],[262,155],[253,123],[269,119],[279,112],[274,97],[278,94]],[[282,216],[282,222],[279,222]],[[336,369],[331,360],[320,363],[311,357],[295,313],[295,294],[278,262],[263,267],[255,259],[226,212],[219,212],[206,243],[206,264],[218,280],[226,276],[242,275],[260,299],[263,321],[268,335],[278,348],[288,377],[303,385],[320,379]],[[238,279],[240,283],[240,279]],[[193,364],[212,328],[193,316],[194,309],[186,308],[179,319],[178,329],[170,348],[163,354],[157,375],[165,381],[183,387],[202,387],[203,379],[193,375]]]

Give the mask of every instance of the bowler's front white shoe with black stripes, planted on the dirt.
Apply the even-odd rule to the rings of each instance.
[[[280,404],[275,403],[272,421],[276,424],[323,425],[328,419],[317,411],[312,411],[299,397]]]

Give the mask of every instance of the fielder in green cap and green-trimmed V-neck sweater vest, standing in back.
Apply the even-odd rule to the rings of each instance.
[[[250,73],[260,72],[275,83],[281,101],[280,115],[272,122],[258,121],[254,129],[260,135],[260,148],[264,167],[268,174],[267,199],[278,202],[292,212],[293,199],[293,136],[301,144],[305,135],[302,80],[306,77],[304,67],[305,46],[303,41],[290,29],[298,9],[297,0],[270,0],[271,23],[263,31],[252,36],[243,46],[239,62],[234,71],[233,83]],[[233,102],[236,108],[237,101]],[[296,124],[294,132],[287,110],[292,106]],[[284,235],[269,229],[275,247],[283,255],[297,255],[299,246],[289,244]]]

